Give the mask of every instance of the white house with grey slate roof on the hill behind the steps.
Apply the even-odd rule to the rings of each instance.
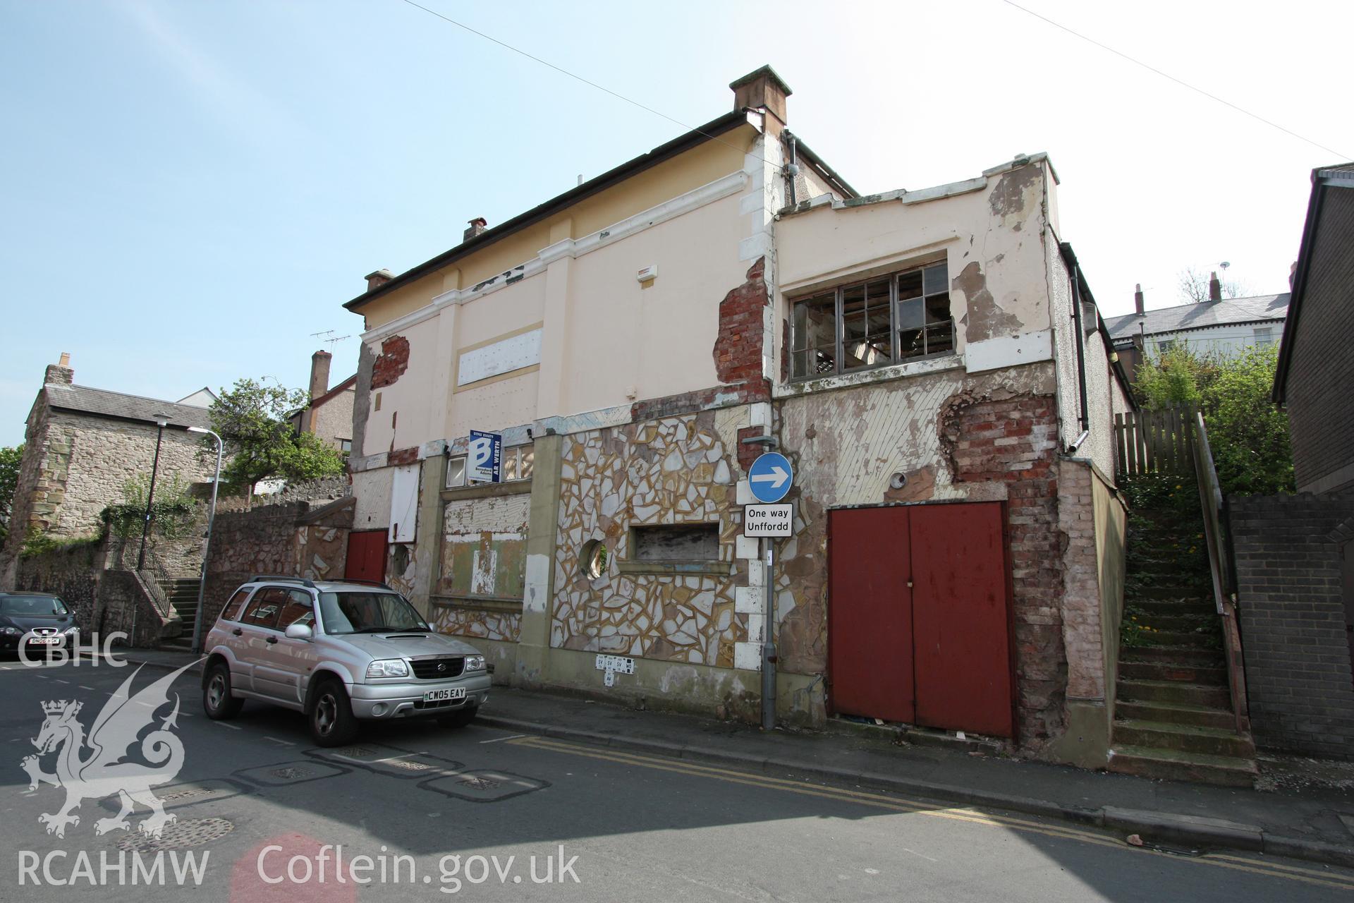
[[[1217,273],[1212,273],[1208,301],[1144,310],[1139,287],[1133,303],[1135,313],[1105,318],[1114,351],[1131,378],[1136,376],[1144,357],[1173,347],[1229,356],[1243,348],[1273,345],[1284,333],[1289,294],[1224,301]]]

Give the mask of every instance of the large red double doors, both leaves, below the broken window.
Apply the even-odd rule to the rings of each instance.
[[[829,516],[834,712],[1014,736],[1003,505]]]

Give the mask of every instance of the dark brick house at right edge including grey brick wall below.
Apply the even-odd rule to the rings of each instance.
[[[1354,164],[1312,173],[1274,401],[1296,495],[1229,498],[1255,742],[1354,758]]]

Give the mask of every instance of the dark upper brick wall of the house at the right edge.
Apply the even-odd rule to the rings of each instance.
[[[1327,188],[1293,337],[1288,417],[1300,490],[1354,487],[1354,191]]]

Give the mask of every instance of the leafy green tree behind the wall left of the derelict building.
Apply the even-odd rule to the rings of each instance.
[[[244,486],[249,495],[260,481],[274,477],[313,479],[345,470],[338,449],[313,433],[299,433],[290,414],[310,402],[303,389],[269,386],[253,379],[236,380],[229,391],[211,402],[211,428],[226,443],[230,460],[222,464],[225,482]],[[214,443],[203,448],[215,454]]]

